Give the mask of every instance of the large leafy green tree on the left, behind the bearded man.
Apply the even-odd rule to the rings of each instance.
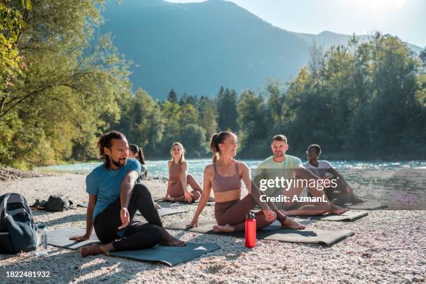
[[[10,153],[0,163],[22,167],[70,159],[74,150],[94,154],[93,138],[109,128],[102,118],[119,118],[117,97],[129,90],[128,63],[109,36],[89,45],[97,1],[31,3],[17,43],[28,70],[7,89],[0,113],[8,137],[0,152]]]

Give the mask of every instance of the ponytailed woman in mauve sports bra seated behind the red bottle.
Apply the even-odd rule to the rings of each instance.
[[[283,228],[303,229],[304,226],[290,220],[279,210],[269,207],[269,203],[260,201],[260,190],[251,181],[246,164],[234,159],[237,155],[237,136],[231,132],[214,134],[210,149],[214,153],[212,164],[205,167],[203,194],[200,198],[194,218],[188,227],[198,226],[200,216],[210,196],[214,192],[214,217],[217,225],[215,232],[238,232],[245,230],[246,214],[259,205],[262,210],[255,212],[256,228],[260,230],[278,219]],[[241,198],[242,182],[246,184],[248,194]],[[272,208],[272,209],[271,209]]]

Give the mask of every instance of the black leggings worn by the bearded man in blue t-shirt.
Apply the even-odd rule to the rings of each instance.
[[[129,251],[155,246],[163,239],[161,220],[152,201],[150,191],[145,185],[134,184],[132,198],[130,198],[129,206],[127,207],[130,214],[130,223],[125,228],[123,237],[118,235],[118,227],[121,226],[120,209],[120,198],[117,198],[96,216],[93,226],[95,227],[97,238],[100,239],[102,244],[112,242],[116,251]],[[141,212],[148,223],[133,220],[136,210]]]

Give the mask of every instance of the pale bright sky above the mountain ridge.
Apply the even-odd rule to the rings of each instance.
[[[202,0],[166,0],[173,3]],[[390,33],[425,48],[425,0],[228,0],[287,31]]]

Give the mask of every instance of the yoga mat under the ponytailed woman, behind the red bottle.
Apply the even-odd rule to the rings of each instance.
[[[187,224],[190,221],[182,221],[179,223],[173,223],[170,226],[166,226],[168,229],[174,230],[188,230]],[[216,234],[212,230],[212,227],[216,225],[216,221],[201,221],[198,222],[197,228],[191,228],[191,232],[201,232],[204,234]],[[228,232],[221,235],[230,237],[243,237],[244,232]],[[319,230],[313,228],[306,228],[304,230],[291,230],[283,229],[281,226],[267,226],[262,230],[256,232],[257,239],[272,239],[280,242],[294,242],[294,243],[305,243],[305,244],[322,244],[326,246],[332,246],[340,242],[346,237],[354,235],[352,230]]]

